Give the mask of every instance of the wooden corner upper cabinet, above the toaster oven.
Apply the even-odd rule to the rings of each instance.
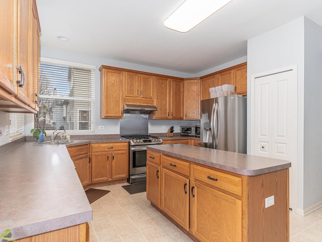
[[[185,119],[199,119],[200,116],[200,79],[184,81]]]

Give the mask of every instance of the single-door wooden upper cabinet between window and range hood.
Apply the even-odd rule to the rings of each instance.
[[[123,117],[123,73],[100,67],[101,72],[101,118]]]

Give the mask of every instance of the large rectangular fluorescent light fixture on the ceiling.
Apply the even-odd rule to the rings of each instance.
[[[182,33],[204,21],[232,0],[186,0],[164,22],[165,26]]]

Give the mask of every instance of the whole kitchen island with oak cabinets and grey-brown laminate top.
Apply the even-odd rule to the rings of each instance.
[[[195,241],[289,241],[289,161],[147,147],[147,198]]]

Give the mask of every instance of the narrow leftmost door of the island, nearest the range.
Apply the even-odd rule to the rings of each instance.
[[[161,172],[160,166],[150,161],[146,162],[146,197],[157,207],[161,206]]]

